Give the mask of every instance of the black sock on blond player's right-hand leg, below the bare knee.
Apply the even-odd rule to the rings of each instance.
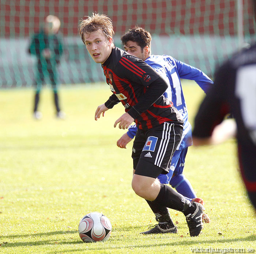
[[[185,216],[195,211],[193,204],[184,196],[165,184],[160,184],[160,186],[160,192],[157,198],[154,200],[159,205],[181,211]]]

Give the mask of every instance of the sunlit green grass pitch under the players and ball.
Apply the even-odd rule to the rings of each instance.
[[[193,123],[203,93],[189,82],[183,89]],[[237,169],[234,140],[189,148],[184,173],[211,218],[202,234],[191,238],[184,215],[170,210],[178,234],[144,236],[139,232],[156,222],[131,188],[132,143],[116,146],[124,130],[113,124],[124,109],[116,105],[94,120],[97,106],[111,95],[107,85],[61,88],[65,120],[54,118],[49,89],[42,91],[39,121],[32,118],[32,90],[0,93],[0,253],[182,254],[194,247],[255,252],[255,213]],[[107,242],[79,238],[80,219],[93,211],[112,223]]]

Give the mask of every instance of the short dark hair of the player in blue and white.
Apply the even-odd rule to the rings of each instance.
[[[151,53],[151,34],[142,27],[134,27],[121,36],[121,41],[125,45],[128,41],[136,42],[143,49],[149,47]]]

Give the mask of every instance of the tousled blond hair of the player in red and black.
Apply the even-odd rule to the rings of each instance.
[[[84,33],[90,34],[90,32],[97,30],[101,30],[107,39],[113,39],[114,30],[112,20],[105,14],[93,13],[92,16],[87,16],[87,19],[83,19],[79,25],[79,35],[83,43],[85,44]]]

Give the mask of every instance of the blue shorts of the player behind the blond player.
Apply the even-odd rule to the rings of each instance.
[[[174,152],[169,173],[160,174],[157,177],[161,182],[161,184],[169,184],[173,174],[178,175],[183,173],[187,151],[188,151],[188,147],[185,147],[184,149],[176,150]]]

